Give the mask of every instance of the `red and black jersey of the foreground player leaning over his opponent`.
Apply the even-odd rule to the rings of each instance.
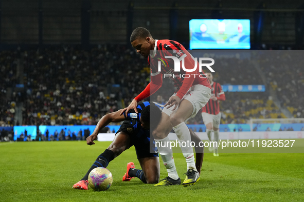
[[[171,40],[155,40],[155,47],[153,50],[153,54],[149,55],[148,57],[148,64],[151,69],[151,76],[156,76],[157,74],[161,73],[163,75],[170,75],[166,76],[174,82],[174,86],[177,87],[177,91],[181,88],[184,82],[184,77],[194,77],[193,85],[204,85],[211,89],[209,80],[201,76],[200,74],[204,74],[204,72],[199,72],[199,63],[197,63],[196,70],[192,72],[186,72],[182,68],[181,63],[181,71],[175,72],[174,71],[174,62],[173,59],[165,58],[165,56],[175,56],[178,59],[182,60],[182,58],[188,57],[189,60],[186,64],[185,68],[193,69],[195,65],[195,60],[193,56],[185,49],[183,45],[178,42],[171,41]],[[158,61],[161,61],[161,71],[158,71]],[[190,67],[187,67],[190,66]],[[185,75],[188,74],[188,75]],[[184,76],[184,77],[183,77]],[[190,87],[191,87],[190,86]],[[176,91],[176,92],[177,92]]]

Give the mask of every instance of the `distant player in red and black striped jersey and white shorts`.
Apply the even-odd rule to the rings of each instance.
[[[212,141],[212,129],[214,132],[214,142],[219,143],[219,127],[221,122],[221,112],[220,112],[220,100],[224,101],[226,99],[225,93],[222,90],[222,87],[219,83],[213,82],[213,76],[210,72],[206,73],[209,79],[209,82],[212,87],[211,98],[209,102],[203,107],[202,117],[204,124],[206,125],[206,132],[209,138],[209,143]],[[215,147],[214,147],[215,146]],[[214,147],[214,148],[213,148]],[[213,151],[213,156],[219,156],[218,145],[209,144],[209,151]]]

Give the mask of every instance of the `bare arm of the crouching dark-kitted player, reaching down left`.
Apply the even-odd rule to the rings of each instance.
[[[86,138],[86,144],[95,145],[95,143],[93,141],[97,138],[99,131],[101,129],[103,129],[105,126],[107,126],[108,124],[110,124],[111,122],[122,122],[123,120],[125,120],[126,118],[124,117],[123,113],[122,113],[122,115],[120,115],[121,111],[122,111],[122,109],[102,116],[100,118],[99,122],[97,123],[92,135],[90,135]]]

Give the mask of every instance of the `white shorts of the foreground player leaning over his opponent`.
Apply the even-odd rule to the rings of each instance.
[[[173,94],[173,95],[175,95],[175,94]],[[205,105],[208,103],[210,97],[211,97],[210,88],[200,85],[200,84],[191,86],[191,88],[188,90],[188,92],[183,97],[183,99],[187,99],[193,106],[193,111],[189,118],[193,118],[200,111],[200,109],[205,107]],[[170,107],[169,109],[164,107],[163,112],[165,114],[167,114],[168,116],[170,116],[173,108],[174,108],[174,105],[172,107]],[[177,109],[178,109],[178,107],[175,110],[177,110]]]

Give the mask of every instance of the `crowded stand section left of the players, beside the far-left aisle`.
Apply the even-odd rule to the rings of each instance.
[[[147,83],[149,73],[141,71],[141,63],[124,46],[25,52],[23,125],[96,125],[118,109],[121,98],[128,104]]]

